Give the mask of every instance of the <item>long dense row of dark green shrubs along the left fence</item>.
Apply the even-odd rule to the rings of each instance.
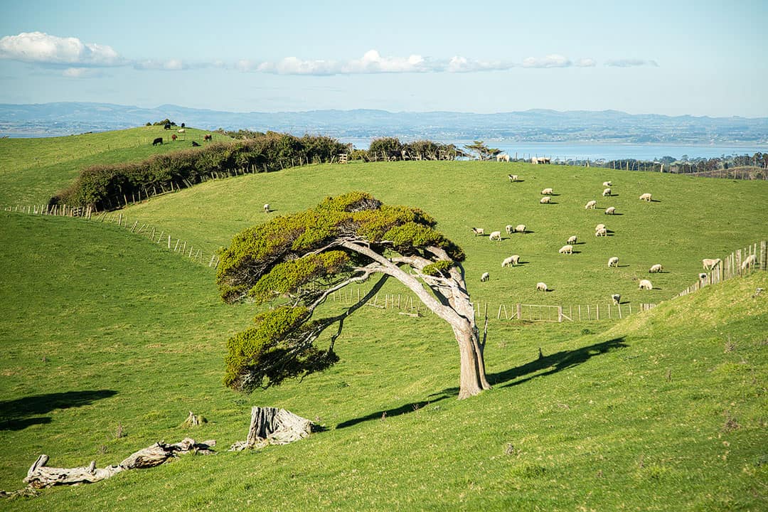
[[[303,163],[329,162],[350,149],[349,144],[332,137],[267,132],[157,154],[141,162],[93,165],[84,169],[70,187],[51,197],[49,204],[112,210],[122,206],[126,197],[147,197],[170,182],[188,186],[200,183],[211,173],[269,172]]]

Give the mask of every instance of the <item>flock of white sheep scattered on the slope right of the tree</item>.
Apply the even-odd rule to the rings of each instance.
[[[519,180],[519,176],[516,175],[516,174],[509,174],[508,178],[513,183]],[[611,181],[604,181],[603,182],[603,187],[604,187],[603,188],[603,193],[602,193],[603,197],[611,197],[611,196],[613,196],[613,190],[611,190],[611,186],[612,186]],[[539,203],[541,203],[541,204],[551,204],[552,203],[552,196],[554,196],[554,189],[552,187],[547,187],[547,188],[542,189],[541,190],[541,196],[543,196],[543,197],[541,197],[541,199],[539,200]],[[650,203],[652,201],[652,197],[653,196],[650,193],[643,193],[640,196],[639,199],[647,201],[647,202]],[[597,200],[589,200],[584,205],[584,210],[594,210],[595,208],[597,208],[597,205],[598,205],[598,201]],[[616,214],[616,207],[615,206],[608,206],[605,209],[604,214],[605,215],[615,215]],[[508,235],[511,235],[512,233],[524,233],[525,234],[526,233],[526,228],[527,228],[527,226],[525,226],[525,224],[518,224],[517,226],[512,226],[511,224],[509,224],[508,226],[505,227],[505,231],[506,231],[506,233]],[[482,227],[473,227],[472,228],[472,233],[475,233],[475,236],[482,236],[482,235],[485,235],[485,229],[482,228]],[[600,237],[600,236],[608,236],[607,226],[605,226],[604,223],[599,223],[597,226],[595,226],[594,227],[594,236],[598,236],[598,237]],[[488,235],[488,239],[501,242],[502,241],[502,231],[501,230],[492,231]],[[577,240],[578,240],[578,237],[576,235],[569,236],[566,245],[562,246],[558,250],[558,253],[560,253],[560,254],[568,254],[568,255],[573,254],[574,253],[574,245],[577,243]],[[704,261],[705,261],[705,266],[706,266],[707,265],[706,262],[710,261],[710,260],[704,260]],[[714,260],[711,260],[711,261],[713,262]],[[719,262],[720,260],[717,260],[717,261]],[[507,258],[505,258],[502,261],[502,268],[508,267],[508,266],[516,266],[519,263],[520,263],[520,255],[519,254],[513,254],[512,256],[508,256]],[[618,263],[619,263],[618,256],[611,256],[608,259],[608,268],[611,268],[611,267],[617,268],[618,267]],[[716,265],[717,263],[712,263],[712,264]],[[660,263],[656,263],[656,264],[650,266],[650,269],[648,269],[648,273],[652,273],[652,274],[653,273],[660,273],[660,272],[663,272],[663,271],[664,271],[664,266],[662,266]],[[488,281],[488,279],[490,279],[490,273],[488,273],[488,272],[483,273],[481,278],[480,278],[480,280],[482,282]],[[650,282],[649,279],[641,279],[640,282],[639,282],[639,286],[638,287],[641,290],[650,290],[650,289],[654,288],[653,284]],[[541,291],[541,292],[546,292],[546,291],[548,291],[548,286],[547,286],[547,284],[545,282],[537,282],[536,283],[536,290],[537,291]],[[614,293],[614,294],[611,295],[611,300],[614,302],[614,304],[618,304],[619,301],[621,300],[621,295],[618,294],[618,293]]]

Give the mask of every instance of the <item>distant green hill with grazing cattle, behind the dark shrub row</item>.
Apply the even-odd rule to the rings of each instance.
[[[40,139],[0,139],[0,205],[45,204],[81,170],[93,164],[144,160],[153,154],[202,144],[209,132],[187,128],[171,143],[175,130],[138,127],[95,134]],[[155,137],[167,144],[152,146]],[[217,140],[223,136],[217,135]],[[184,139],[184,140],[181,140]]]

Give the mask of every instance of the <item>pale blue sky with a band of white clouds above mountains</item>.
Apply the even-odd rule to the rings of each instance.
[[[766,0],[0,2],[0,103],[768,117]]]

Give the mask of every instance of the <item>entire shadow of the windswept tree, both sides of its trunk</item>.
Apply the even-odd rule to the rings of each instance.
[[[621,337],[611,339],[607,342],[595,343],[594,345],[576,348],[575,350],[563,350],[552,355],[546,355],[544,357],[535,359],[534,361],[525,363],[525,365],[510,368],[504,372],[488,374],[488,382],[490,382],[492,386],[499,386],[509,382],[509,384],[500,386],[502,388],[511,385],[518,385],[522,382],[530,380],[531,378],[545,377],[546,375],[551,375],[553,373],[561,372],[564,369],[571,368],[576,365],[581,365],[581,363],[588,361],[588,359],[593,358],[595,355],[601,355],[614,348],[624,348],[626,346],[627,345],[624,343],[624,338]],[[545,368],[551,369],[544,373],[531,375]],[[519,377],[524,377],[525,375],[530,376],[520,380],[515,380]],[[366,416],[342,421],[336,425],[336,428],[352,427],[353,425],[362,423],[363,421],[372,421],[376,419],[382,420],[384,418],[392,418],[393,416],[406,415],[418,411],[425,405],[431,405],[437,401],[445,400],[446,398],[454,398],[457,395],[458,388],[445,388],[442,391],[429,395],[425,401],[415,401],[409,404],[401,405],[398,408],[376,411]]]

